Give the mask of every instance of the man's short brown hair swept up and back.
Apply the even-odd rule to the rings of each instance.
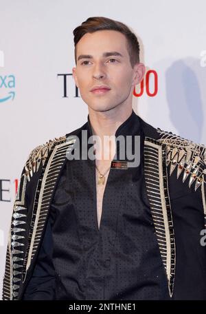
[[[87,33],[93,33],[98,30],[116,30],[126,36],[127,49],[130,56],[130,64],[134,67],[135,63],[139,63],[139,41],[137,36],[124,23],[108,19],[108,17],[89,17],[73,30],[74,54],[76,60],[76,45],[78,41]]]

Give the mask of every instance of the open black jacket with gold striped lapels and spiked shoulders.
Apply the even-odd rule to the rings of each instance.
[[[159,254],[168,280],[168,292],[172,297],[174,282],[185,280],[181,277],[184,272],[176,269],[179,252],[184,251],[185,258],[193,255],[192,258],[199,261],[203,275],[206,275],[206,253],[200,242],[206,212],[205,146],[155,129],[141,118],[139,121],[144,134],[146,191]],[[67,162],[67,154],[71,154],[75,147],[76,136],[80,136],[80,132],[87,127],[88,123],[66,136],[36,147],[25,163],[14,202],[3,300],[23,299],[43,243],[52,199]],[[176,217],[175,225],[172,216]],[[190,238],[187,227],[182,229],[182,221],[185,226],[192,226]],[[177,243],[177,239],[182,240]],[[192,265],[189,261],[188,267],[185,267],[190,270]],[[194,276],[195,273],[194,269]],[[190,284],[191,280],[188,282]],[[205,280],[200,278],[200,284],[205,293]]]

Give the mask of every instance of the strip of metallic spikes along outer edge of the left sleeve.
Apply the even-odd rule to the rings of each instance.
[[[19,295],[19,282],[21,282],[23,267],[23,247],[27,233],[27,174],[26,167],[30,156],[34,154],[38,147],[35,147],[27,157],[21,178],[18,183],[12,216],[10,220],[10,230],[8,232],[8,244],[5,258],[5,272],[3,276],[3,300],[15,300]],[[12,246],[13,244],[13,246]],[[18,269],[18,271],[16,271]]]

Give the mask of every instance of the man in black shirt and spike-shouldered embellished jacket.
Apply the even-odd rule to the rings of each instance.
[[[73,34],[88,121],[36,147],[25,164],[3,299],[206,300],[205,146],[133,111],[145,67],[126,25],[90,17]],[[91,136],[113,140],[93,146]],[[118,136],[131,136],[138,160],[121,158]],[[83,158],[91,148],[103,158]]]

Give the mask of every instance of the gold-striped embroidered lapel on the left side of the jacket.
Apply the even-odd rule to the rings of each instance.
[[[60,176],[60,171],[63,165],[65,165],[68,154],[73,149],[74,143],[76,143],[75,136],[68,136],[63,143],[57,143],[38,180],[30,234],[28,236],[29,242],[25,253],[25,273],[21,282],[21,289],[19,289],[18,298],[21,298],[23,293],[22,288],[25,284],[25,280],[29,280],[29,276],[27,275],[28,270],[31,270],[32,266],[35,264],[38,249],[47,224],[49,206],[54,195],[58,177]]]

